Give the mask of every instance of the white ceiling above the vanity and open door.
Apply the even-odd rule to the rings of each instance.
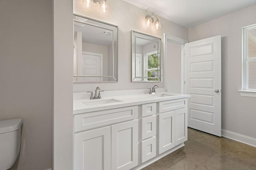
[[[191,28],[256,4],[256,0],[124,0],[176,24]]]

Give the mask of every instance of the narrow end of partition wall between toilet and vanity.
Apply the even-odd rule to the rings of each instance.
[[[53,168],[73,169],[73,1],[53,0]],[[41,147],[41,146],[38,146]],[[40,154],[40,152],[38,153]],[[38,156],[40,159],[40,156]],[[42,161],[42,159],[40,159]],[[33,168],[32,168],[33,169]],[[27,169],[29,170],[29,169]],[[42,170],[34,168],[33,170]]]

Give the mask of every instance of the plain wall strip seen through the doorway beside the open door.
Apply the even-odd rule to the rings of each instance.
[[[166,88],[168,92],[181,93],[181,47],[180,44],[169,41],[166,47]]]

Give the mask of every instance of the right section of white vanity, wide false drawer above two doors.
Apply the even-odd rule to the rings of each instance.
[[[158,153],[161,154],[188,140],[187,99],[159,102]],[[182,109],[181,109],[182,108]]]

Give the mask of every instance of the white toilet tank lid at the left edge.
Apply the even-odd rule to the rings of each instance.
[[[22,119],[8,119],[0,121],[0,134],[17,130],[22,125]]]

